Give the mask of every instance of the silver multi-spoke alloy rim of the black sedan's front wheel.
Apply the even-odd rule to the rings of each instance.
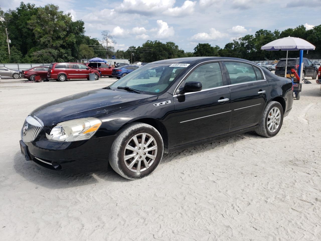
[[[148,133],[134,135],[127,143],[124,151],[124,162],[132,172],[143,172],[155,161],[157,155],[155,138]]]

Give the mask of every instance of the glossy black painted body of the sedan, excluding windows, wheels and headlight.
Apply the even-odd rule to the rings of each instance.
[[[265,78],[251,83],[231,84],[226,68],[226,62],[229,61],[258,67]],[[184,84],[184,80],[197,67],[212,62],[219,63],[222,86],[179,94],[180,85]],[[255,129],[270,101],[280,102],[284,115],[292,108],[291,80],[276,76],[247,60],[193,57],[154,63],[190,65],[159,95],[103,88],[45,104],[32,112],[43,121],[44,128],[34,141],[21,143],[22,149],[26,145],[30,159],[50,171],[76,173],[104,170],[108,165],[110,147],[119,131],[135,121],[154,126],[163,138],[164,151],[173,152]],[[264,93],[258,93],[262,91]],[[219,103],[222,98],[228,100]],[[57,123],[87,117],[102,121],[100,128],[90,139],[57,142],[46,138],[46,133]],[[58,163],[59,170],[53,168],[54,164],[49,165],[35,157],[49,163]]]

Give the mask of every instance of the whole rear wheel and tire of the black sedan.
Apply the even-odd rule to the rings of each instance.
[[[273,112],[271,113],[272,109],[273,109],[273,111],[275,110],[274,113],[278,113],[277,110],[279,110],[280,118],[271,118],[271,117],[273,117]],[[278,117],[278,116],[279,115],[276,114],[276,117]],[[268,118],[272,119],[272,120],[270,120],[270,121],[272,121],[271,122],[272,124],[270,125],[271,129],[269,129],[269,127],[268,127]],[[277,122],[279,122],[278,125],[277,125]],[[255,132],[260,136],[273,137],[277,133],[279,133],[279,131],[282,127],[282,123],[283,123],[283,107],[279,102],[271,101],[270,103],[268,103],[266,105],[265,110],[262,115],[260,125],[255,130]],[[274,131],[273,131],[273,128],[275,128]]]

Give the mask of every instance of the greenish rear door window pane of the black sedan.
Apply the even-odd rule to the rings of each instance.
[[[253,66],[241,62],[224,62],[230,76],[231,84],[256,81]]]

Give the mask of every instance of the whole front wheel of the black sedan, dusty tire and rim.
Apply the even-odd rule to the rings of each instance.
[[[145,134],[144,144],[147,144],[147,147],[143,148],[151,148],[156,146],[156,149],[148,151],[147,153],[145,153],[142,149],[138,149],[142,144],[141,141],[143,138],[143,133]],[[137,140],[136,143],[140,144],[138,146],[133,140],[135,139],[135,136]],[[151,137],[153,138],[152,142],[148,143]],[[128,146],[130,146],[131,149],[128,149]],[[128,124],[119,132],[117,138],[111,146],[109,163],[119,175],[130,180],[136,180],[148,176],[156,169],[163,156],[163,151],[163,139],[157,129],[148,124],[134,122]],[[130,157],[131,155],[133,156]],[[130,158],[125,160],[124,156]],[[149,156],[154,157],[154,159],[150,158]],[[146,166],[145,162],[147,162]],[[140,164],[140,166],[138,164]]]

